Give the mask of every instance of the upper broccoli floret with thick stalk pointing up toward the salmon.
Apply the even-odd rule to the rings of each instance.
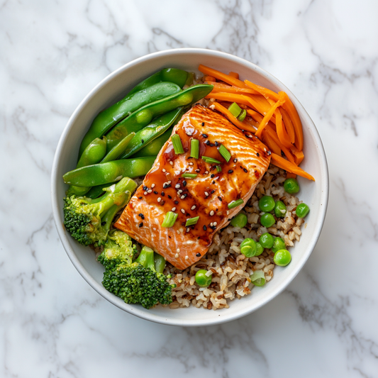
[[[99,199],[70,196],[64,199],[66,230],[82,245],[101,245],[106,241],[114,216],[130,199],[136,184],[124,177],[106,188]]]

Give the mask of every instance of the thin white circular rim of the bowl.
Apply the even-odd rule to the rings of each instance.
[[[72,128],[72,125],[74,124],[75,119],[77,118],[77,115],[82,111],[82,108],[85,104],[87,104],[92,96],[96,94],[98,91],[104,87],[104,84],[108,83],[113,79],[113,77],[116,77],[118,74],[123,72],[124,70],[128,70],[128,68],[133,67],[135,65],[138,65],[140,62],[144,62],[145,60],[150,60],[151,58],[154,57],[162,57],[166,55],[185,55],[188,53],[197,53],[197,54],[203,54],[203,55],[208,55],[211,57],[222,57],[226,58],[228,60],[232,60],[237,63],[241,63],[242,65],[248,66],[251,70],[256,71],[257,73],[265,76],[267,79],[269,79],[270,82],[273,84],[276,84],[277,86],[281,87],[284,89],[284,91],[287,92],[289,95],[291,101],[294,102],[294,105],[296,106],[297,109],[301,109],[301,112],[304,113],[305,116],[308,117],[308,123],[310,125],[310,128],[312,129],[313,136],[316,140],[316,143],[318,145],[318,150],[320,154],[320,160],[321,160],[321,172],[323,173],[322,176],[322,185],[320,190],[322,191],[321,193],[321,204],[323,206],[321,207],[321,210],[319,211],[319,219],[318,222],[316,223],[316,227],[313,230],[313,235],[311,237],[311,241],[306,249],[306,254],[303,255],[301,260],[296,265],[296,269],[289,274],[288,277],[284,278],[284,281],[282,282],[281,286],[279,289],[276,289],[275,291],[272,291],[272,293],[268,294],[263,301],[260,301],[260,304],[257,304],[257,306],[250,306],[249,308],[243,308],[242,311],[239,311],[238,313],[233,313],[227,316],[227,314],[223,314],[222,316],[218,316],[213,319],[208,319],[206,320],[206,317],[204,317],[203,320],[198,321],[187,321],[187,320],[182,320],[180,318],[166,318],[165,316],[161,315],[156,315],[155,313],[148,312],[146,313],[145,311],[140,311],[138,306],[133,306],[130,304],[126,304],[123,301],[119,301],[119,298],[111,294],[109,291],[106,291],[106,289],[96,282],[94,277],[89,274],[87,269],[85,269],[84,265],[79,261],[77,255],[75,254],[74,250],[72,249],[67,233],[64,233],[62,231],[62,228],[58,227],[57,225],[60,223],[60,214],[59,214],[59,209],[60,209],[60,204],[58,203],[59,199],[57,198],[57,183],[58,180],[61,179],[61,177],[58,177],[58,172],[57,172],[57,167],[59,166],[59,161],[60,161],[60,155],[61,155],[61,150],[63,146],[65,145],[65,140],[67,138],[67,135],[70,133],[70,130]],[[60,237],[60,241],[65,248],[65,251],[70,258],[72,264],[74,267],[77,269],[79,274],[82,275],[82,277],[87,281],[87,283],[101,296],[104,297],[104,299],[108,300],[118,308],[121,308],[123,311],[126,311],[130,314],[133,314],[135,316],[138,316],[139,318],[143,318],[148,321],[152,321],[155,323],[161,323],[165,325],[172,325],[172,326],[210,326],[210,325],[215,325],[219,323],[226,323],[228,321],[233,321],[235,319],[241,318],[243,316],[248,315],[249,313],[252,313],[253,311],[256,311],[258,308],[261,308],[262,306],[265,306],[269,301],[274,299],[274,297],[278,296],[279,294],[284,291],[284,289],[287,288],[287,286],[293,281],[293,279],[296,277],[297,274],[301,271],[302,267],[304,267],[304,264],[307,262],[308,258],[310,257],[311,253],[313,252],[313,249],[316,246],[316,243],[318,242],[319,235],[321,234],[321,230],[323,228],[324,220],[326,218],[326,211],[328,207],[328,196],[329,196],[329,174],[328,174],[328,164],[327,164],[327,159],[326,159],[326,152],[324,151],[323,148],[323,143],[321,141],[320,135],[318,133],[318,130],[313,123],[311,117],[308,115],[306,109],[304,109],[304,106],[301,105],[301,103],[296,99],[296,96],[291,93],[291,91],[282,83],[280,82],[276,77],[274,77],[272,74],[269,72],[263,70],[261,67],[253,64],[252,62],[249,62],[248,60],[245,60],[241,57],[236,57],[235,55],[228,54],[227,52],[221,52],[221,51],[216,51],[216,50],[209,50],[209,49],[204,49],[204,48],[178,48],[178,49],[172,49],[172,50],[162,50],[158,52],[152,52],[151,54],[148,55],[143,55],[142,57],[138,57],[135,60],[132,60],[131,62],[126,63],[126,65],[123,65],[119,67],[117,70],[111,72],[109,75],[107,75],[104,79],[99,82],[99,84],[96,84],[96,86],[89,91],[87,96],[82,99],[82,101],[79,103],[77,108],[74,110],[72,113],[72,116],[70,116],[70,119],[68,120],[65,128],[62,131],[62,135],[60,136],[60,140],[57,143],[57,148],[55,150],[55,156],[54,160],[52,162],[52,172],[51,172],[51,201],[52,201],[52,215],[55,221],[55,226],[57,228],[57,233]],[[223,310],[223,311],[226,311]]]

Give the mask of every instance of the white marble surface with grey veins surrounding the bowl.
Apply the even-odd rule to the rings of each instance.
[[[0,1],[0,377],[378,377],[376,0]],[[50,209],[57,141],[107,74],[168,48],[231,52],[304,104],[328,156],[316,250],[264,308],[162,326],[102,299]]]

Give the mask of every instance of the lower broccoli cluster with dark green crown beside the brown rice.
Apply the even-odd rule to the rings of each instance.
[[[174,285],[167,282],[171,276],[162,274],[165,267],[163,257],[144,246],[133,261],[135,251],[130,247],[130,239],[127,240],[119,233],[122,232],[115,231],[109,235],[109,248],[106,245],[99,256],[99,261],[105,267],[102,281],[105,289],[127,304],[141,304],[145,308],[159,303],[170,304]],[[125,239],[126,243],[123,244]]]

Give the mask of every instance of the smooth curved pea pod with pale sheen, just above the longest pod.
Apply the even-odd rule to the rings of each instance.
[[[160,99],[164,99],[171,94],[180,91],[180,87],[172,82],[157,82],[156,84],[135,91],[128,94],[126,97],[113,104],[108,109],[101,111],[96,118],[94,118],[91,127],[84,135],[82,144],[79,149],[79,156],[85,150],[87,145],[91,143],[94,138],[99,138],[110,130],[116,123],[129,116],[133,111],[138,110],[140,107],[150,104]]]

